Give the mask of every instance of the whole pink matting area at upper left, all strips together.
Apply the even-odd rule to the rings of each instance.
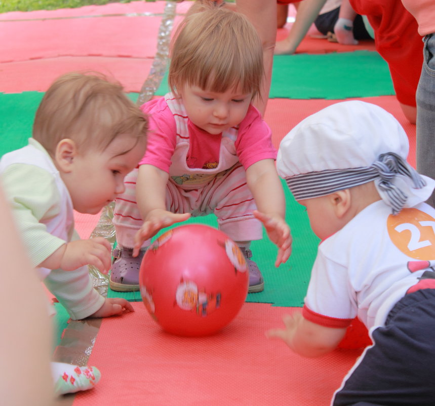
[[[174,26],[191,2],[177,4]],[[46,91],[62,73],[101,71],[140,92],[166,2],[110,3],[0,15],[0,92]]]

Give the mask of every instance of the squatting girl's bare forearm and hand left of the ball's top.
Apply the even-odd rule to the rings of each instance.
[[[144,219],[135,235],[133,256],[137,256],[143,242],[161,229],[184,222],[190,213],[176,214],[166,210],[166,184],[169,174],[153,165],[141,165],[136,181],[136,201]]]

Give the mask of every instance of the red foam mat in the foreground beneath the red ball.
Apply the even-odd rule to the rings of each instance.
[[[106,318],[89,364],[102,374],[73,406],[328,405],[360,350],[318,359],[293,354],[264,331],[295,309],[246,303],[219,334],[182,338],[164,333],[141,302],[136,312]]]

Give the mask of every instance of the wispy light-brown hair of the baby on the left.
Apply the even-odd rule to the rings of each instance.
[[[147,129],[147,118],[119,83],[97,72],[71,72],[45,93],[32,135],[53,157],[64,138],[76,142],[79,150],[104,151],[118,135],[145,137]]]

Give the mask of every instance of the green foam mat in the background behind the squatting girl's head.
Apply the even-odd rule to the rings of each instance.
[[[162,96],[168,91],[166,74],[155,94]],[[273,58],[270,98],[345,99],[394,94],[388,65],[377,52],[275,55]]]

